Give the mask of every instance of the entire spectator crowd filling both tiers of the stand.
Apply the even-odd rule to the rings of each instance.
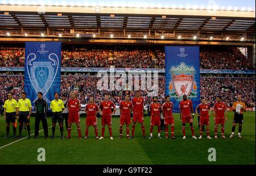
[[[0,66],[24,66],[24,48],[1,47]],[[81,68],[164,68],[164,47],[151,46],[86,46],[63,47],[61,51],[61,66]],[[238,48],[201,47],[201,69],[253,69],[247,58]],[[11,74],[12,76],[10,76]],[[11,92],[15,99],[20,98],[24,87],[24,77],[19,72],[2,72],[0,76],[0,99],[6,99]],[[67,75],[67,76],[66,76]],[[237,78],[239,77],[239,78]],[[77,91],[78,98],[86,103],[93,96],[96,103],[100,103],[104,94],[108,92],[115,104],[118,104],[125,94],[135,97],[134,91],[104,91],[97,89],[100,78],[93,73],[64,73],[61,76],[61,96],[68,97],[72,90]],[[117,78],[115,78],[117,79]],[[125,81],[125,80],[124,80]],[[127,80],[126,80],[127,81]],[[139,81],[141,84],[141,81]],[[122,84],[122,83],[121,83]],[[152,83],[153,84],[153,83]],[[238,94],[248,107],[255,107],[255,76],[245,74],[201,74],[201,96],[213,104],[216,96],[221,95],[228,106],[236,100]],[[158,98],[164,101],[164,77],[158,80]],[[126,87],[127,88],[127,87]],[[142,90],[146,104],[151,103],[148,91]]]

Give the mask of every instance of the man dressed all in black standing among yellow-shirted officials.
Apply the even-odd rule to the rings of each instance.
[[[40,120],[42,120],[43,128],[44,128],[44,139],[48,137],[48,125],[46,119],[47,112],[47,102],[43,99],[43,93],[38,93],[38,99],[35,102],[35,139],[38,139],[39,135],[39,124]]]

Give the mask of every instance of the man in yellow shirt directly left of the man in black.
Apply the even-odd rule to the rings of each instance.
[[[19,99],[16,105],[16,116],[19,118],[19,136],[17,139],[22,138],[22,125],[26,123],[27,125],[27,132],[28,132],[28,139],[30,139],[30,115],[31,115],[31,101],[30,99],[26,98],[26,93],[22,92],[22,99]]]

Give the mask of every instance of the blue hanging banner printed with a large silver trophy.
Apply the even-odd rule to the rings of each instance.
[[[60,93],[61,42],[26,42],[24,91],[34,104],[38,92],[50,103]]]

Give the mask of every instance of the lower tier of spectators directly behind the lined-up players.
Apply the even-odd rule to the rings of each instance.
[[[7,99],[7,93],[11,92],[15,99],[20,98],[23,91],[23,76],[0,76],[0,98]],[[82,104],[93,96],[96,103],[99,104],[105,93],[109,93],[115,104],[123,99],[125,94],[130,94],[131,98],[135,97],[134,91],[104,91],[97,89],[97,82],[100,78],[93,76],[61,76],[61,97],[68,97],[73,90],[77,91],[78,98]],[[164,102],[164,77],[159,77],[158,81],[158,98]],[[147,90],[142,90],[142,97],[145,98],[145,104],[150,104],[152,97],[147,97]],[[201,97],[205,97],[213,106],[217,95],[223,97],[223,101],[232,106],[237,95],[242,95],[243,102],[247,107],[255,107],[255,78],[218,78],[218,77],[201,77]]]

